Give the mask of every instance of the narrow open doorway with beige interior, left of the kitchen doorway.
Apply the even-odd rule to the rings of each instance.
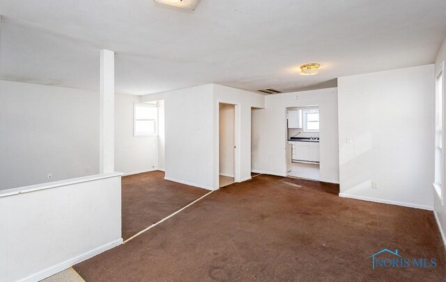
[[[219,176],[222,188],[234,183],[236,154],[236,105],[219,105]]]

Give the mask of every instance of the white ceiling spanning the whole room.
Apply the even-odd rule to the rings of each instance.
[[[206,83],[254,91],[326,88],[339,76],[433,63],[444,0],[0,0],[0,78],[98,90],[116,51],[116,92]],[[321,63],[316,76],[299,66]]]

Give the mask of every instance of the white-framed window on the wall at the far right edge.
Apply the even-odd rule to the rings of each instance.
[[[433,182],[433,188],[436,190],[436,194],[440,199],[440,203],[444,205],[444,180],[445,180],[445,151],[443,135],[443,128],[445,127],[444,115],[445,115],[445,63],[442,62],[438,74],[435,76],[435,88],[436,88],[436,119],[435,119],[435,179]],[[439,82],[441,82],[441,89],[439,88]],[[440,153],[440,159],[438,159],[438,150]],[[440,167],[438,167],[438,165]],[[440,173],[440,181],[438,181],[438,173]]]

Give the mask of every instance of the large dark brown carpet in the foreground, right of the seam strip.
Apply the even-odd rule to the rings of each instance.
[[[256,176],[226,186],[75,266],[86,281],[441,281],[445,251],[433,213],[337,197],[337,185]],[[435,268],[371,269],[399,249]]]

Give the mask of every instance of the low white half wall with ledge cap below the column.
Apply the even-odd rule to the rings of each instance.
[[[0,191],[1,281],[40,281],[121,244],[120,174],[20,191]]]

